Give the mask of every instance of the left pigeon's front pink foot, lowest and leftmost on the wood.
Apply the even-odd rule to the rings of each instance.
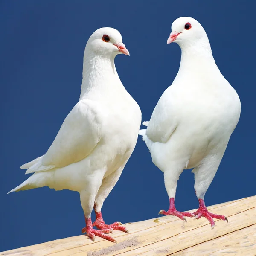
[[[113,229],[105,228],[105,229],[102,229],[102,230],[94,230],[91,218],[88,218],[88,219],[85,218],[85,222],[86,222],[86,227],[84,227],[82,229],[82,233],[86,232],[86,235],[89,236],[90,239],[92,239],[94,241],[95,236],[99,236],[99,237],[102,237],[102,238],[104,238],[108,241],[116,243],[116,240],[113,239],[113,237],[111,237],[109,235],[106,235],[106,234],[109,234],[109,233],[113,233]]]

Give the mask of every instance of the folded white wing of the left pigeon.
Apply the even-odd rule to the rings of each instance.
[[[96,102],[88,99],[79,101],[67,115],[46,154],[30,162],[33,165],[26,174],[61,168],[87,157],[101,139],[102,121]]]

